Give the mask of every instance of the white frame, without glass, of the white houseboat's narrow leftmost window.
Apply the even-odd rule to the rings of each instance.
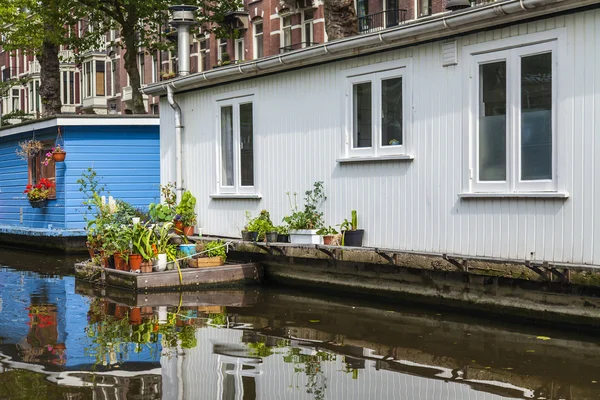
[[[217,193],[225,195],[252,195],[256,193],[256,132],[257,129],[257,112],[258,105],[255,90],[240,90],[231,92],[222,96],[214,97],[215,104],[215,134],[216,134],[216,160],[217,160]],[[241,143],[240,143],[240,105],[252,103],[252,141],[253,141],[253,186],[242,186],[241,184]],[[222,177],[222,157],[221,157],[221,108],[233,107],[233,186],[223,186]]]

